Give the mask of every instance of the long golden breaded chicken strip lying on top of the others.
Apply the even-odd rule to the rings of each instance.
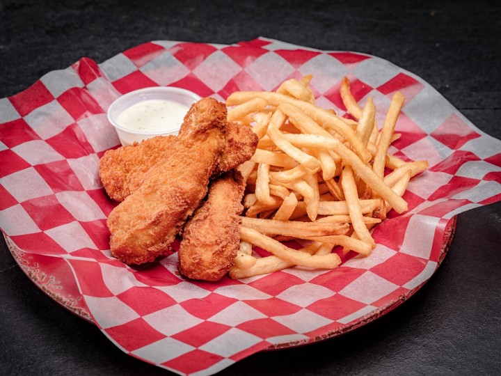
[[[113,256],[148,263],[170,248],[186,218],[200,205],[225,146],[226,107],[202,99],[186,114],[166,157],[145,174],[143,184],[108,217]]]

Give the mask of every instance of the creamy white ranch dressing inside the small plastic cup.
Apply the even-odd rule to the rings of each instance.
[[[178,130],[188,110],[173,100],[143,100],[120,113],[116,122],[139,132]]]

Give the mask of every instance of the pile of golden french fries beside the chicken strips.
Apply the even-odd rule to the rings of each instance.
[[[315,105],[311,79],[289,79],[274,92],[232,93],[226,102],[228,120],[252,127],[260,140],[239,167],[247,189],[240,248],[229,273],[234,279],[296,265],[333,269],[341,263],[337,246],[369,256],[376,246],[372,228],[391,209],[407,210],[401,196],[428,167],[388,153],[400,136],[401,93],[393,95],[379,130],[372,99],[361,108],[346,77],[340,95],[352,118]],[[302,248],[284,244],[292,239]],[[253,246],[272,255],[261,257]]]

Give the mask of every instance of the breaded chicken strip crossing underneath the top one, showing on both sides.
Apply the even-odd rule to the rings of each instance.
[[[196,126],[195,123],[193,123]],[[190,127],[184,126],[179,137],[186,136]],[[164,158],[176,136],[156,136],[141,143],[122,146],[104,153],[99,171],[106,193],[115,201],[123,201],[143,183],[145,173]],[[225,148],[213,175],[230,171],[250,159],[257,147],[257,136],[246,125],[228,122]]]

